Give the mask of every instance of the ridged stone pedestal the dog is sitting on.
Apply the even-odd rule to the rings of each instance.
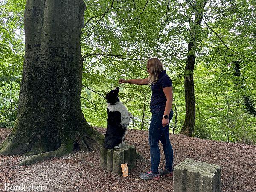
[[[135,167],[136,147],[123,144],[119,149],[100,148],[100,167],[114,175],[122,174],[121,164],[128,164],[128,170]]]

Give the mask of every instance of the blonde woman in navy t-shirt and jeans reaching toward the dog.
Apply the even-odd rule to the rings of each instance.
[[[147,62],[147,72],[149,77],[146,79],[120,79],[119,83],[130,84],[151,84],[152,96],[150,111],[152,113],[149,127],[149,145],[151,157],[151,169],[148,172],[140,173],[141,179],[160,180],[160,175],[172,177],[173,150],[169,140],[169,121],[172,119],[172,80],[163,70],[163,64],[158,58],[151,58]],[[159,140],[163,144],[163,151],[166,160],[165,169],[159,169],[160,150]]]

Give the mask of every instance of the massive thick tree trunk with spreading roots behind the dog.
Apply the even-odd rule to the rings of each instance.
[[[25,60],[15,126],[0,153],[38,154],[21,164],[98,149],[103,136],[81,111],[82,0],[27,0]],[[50,151],[50,152],[49,152]]]

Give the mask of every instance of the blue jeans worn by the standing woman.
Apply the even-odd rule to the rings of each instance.
[[[158,166],[160,162],[160,150],[159,140],[163,144],[163,151],[166,160],[165,168],[172,170],[173,162],[173,150],[169,139],[169,124],[165,127],[162,126],[162,119],[164,113],[164,106],[160,108],[153,108],[150,110],[152,118],[149,127],[148,141],[150,145],[150,157],[151,157],[151,171],[153,173],[158,172]],[[169,121],[172,119],[173,111],[169,114]]]

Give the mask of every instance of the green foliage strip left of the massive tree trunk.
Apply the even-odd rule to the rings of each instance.
[[[3,0],[0,3],[0,126],[12,127],[24,55],[23,12],[25,3]]]

